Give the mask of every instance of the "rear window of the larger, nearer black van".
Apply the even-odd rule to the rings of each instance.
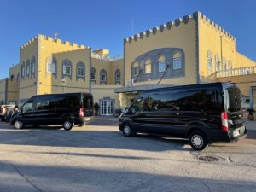
[[[228,87],[228,102],[226,108],[229,112],[241,111],[241,91],[235,85]]]

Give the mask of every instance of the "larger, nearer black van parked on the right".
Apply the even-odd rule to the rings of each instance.
[[[136,132],[189,138],[195,150],[246,137],[241,91],[234,83],[193,84],[147,90],[119,119],[125,137]]]

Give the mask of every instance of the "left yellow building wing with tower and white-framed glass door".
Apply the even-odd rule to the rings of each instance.
[[[108,49],[38,35],[20,48],[19,103],[35,95],[91,92],[102,115],[119,107],[114,89],[121,86],[123,59],[110,58]]]

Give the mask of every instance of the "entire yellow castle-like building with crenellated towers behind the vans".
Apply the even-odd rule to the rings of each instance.
[[[124,55],[115,58],[108,49],[91,51],[38,35],[20,47],[20,63],[0,81],[0,101],[21,104],[38,94],[90,92],[100,114],[112,115],[143,90],[231,80],[247,108],[256,109],[255,78],[256,63],[236,51],[236,38],[195,12],[125,38]]]

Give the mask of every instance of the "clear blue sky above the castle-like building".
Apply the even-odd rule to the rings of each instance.
[[[38,33],[123,54],[123,38],[201,11],[236,37],[236,48],[256,61],[256,1],[229,0],[0,0],[0,79],[19,62],[20,45]]]

